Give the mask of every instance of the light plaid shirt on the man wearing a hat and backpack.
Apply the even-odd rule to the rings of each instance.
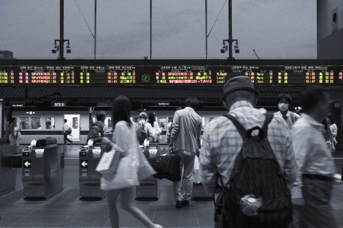
[[[237,101],[230,107],[229,113],[246,129],[250,129],[257,125],[262,127],[265,112],[264,109],[254,108],[248,101]],[[268,125],[268,141],[287,183],[293,183],[296,180],[296,159],[289,138],[289,128],[281,116],[274,116]],[[235,125],[225,116],[217,117],[206,125],[199,161],[201,181],[207,192],[215,190],[217,172],[222,175],[224,186],[230,187],[228,181],[242,144],[243,139]]]

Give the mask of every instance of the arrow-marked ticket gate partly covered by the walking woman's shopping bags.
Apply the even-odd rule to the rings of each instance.
[[[80,200],[100,201],[105,197],[106,191],[100,189],[102,175],[95,171],[102,153],[110,151],[110,147],[102,146],[101,140],[88,140],[79,153],[79,183]]]

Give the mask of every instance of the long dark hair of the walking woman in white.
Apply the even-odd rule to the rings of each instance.
[[[113,100],[112,104],[112,121],[113,129],[119,121],[126,121],[131,127],[132,122],[130,121],[131,112],[131,101],[128,97],[120,95]]]

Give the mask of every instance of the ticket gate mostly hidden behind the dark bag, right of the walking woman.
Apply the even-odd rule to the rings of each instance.
[[[158,143],[149,143],[145,140],[144,145],[140,146],[140,153],[144,153],[147,160],[154,160],[160,145]],[[160,192],[160,180],[155,177],[147,177],[141,181],[140,186],[136,186],[136,200],[137,201],[158,201],[158,195]]]

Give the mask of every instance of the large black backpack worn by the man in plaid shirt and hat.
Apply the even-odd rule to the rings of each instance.
[[[230,189],[225,191],[224,197],[218,199],[222,201],[215,204],[216,212],[217,206],[225,208],[229,227],[288,227],[292,222],[291,194],[267,139],[268,124],[274,115],[265,115],[262,129],[256,126],[248,131],[235,117],[230,114],[224,116],[233,122],[244,142],[230,175]],[[252,136],[255,129],[259,130],[259,134]],[[246,201],[249,195],[255,197]],[[251,205],[254,198],[262,204],[256,210],[256,215],[246,215],[246,205]],[[215,214],[215,222],[218,223],[220,219]]]

